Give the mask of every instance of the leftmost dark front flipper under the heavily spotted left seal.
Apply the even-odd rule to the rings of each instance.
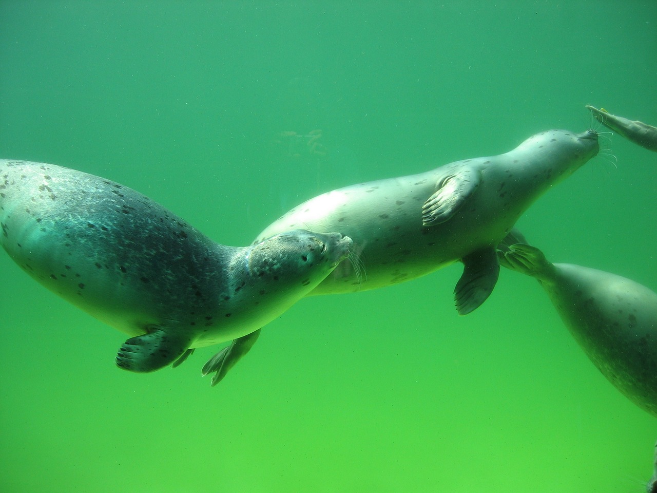
[[[155,371],[187,354],[191,342],[189,337],[177,335],[175,331],[152,329],[126,340],[116,355],[116,365],[139,373]]]

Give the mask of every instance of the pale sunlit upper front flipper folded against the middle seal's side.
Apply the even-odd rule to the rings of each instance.
[[[451,218],[479,186],[480,176],[461,168],[438,181],[438,189],[422,204],[422,225],[434,226]]]

